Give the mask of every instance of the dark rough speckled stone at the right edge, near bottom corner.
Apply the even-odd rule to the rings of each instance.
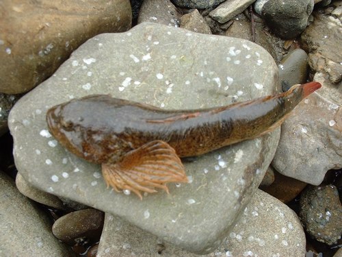
[[[342,234],[342,206],[333,185],[310,186],[300,197],[300,219],[317,241],[332,245]]]

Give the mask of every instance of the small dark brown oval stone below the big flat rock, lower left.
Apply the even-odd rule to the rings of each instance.
[[[52,232],[60,241],[75,245],[81,241],[98,242],[103,229],[104,213],[96,209],[77,210],[57,219]]]

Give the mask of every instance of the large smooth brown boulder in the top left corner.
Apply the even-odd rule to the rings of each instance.
[[[128,0],[3,0],[0,13],[0,92],[6,94],[40,84],[88,38],[131,27]]]

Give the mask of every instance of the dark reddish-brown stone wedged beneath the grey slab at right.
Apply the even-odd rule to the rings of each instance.
[[[286,204],[299,195],[305,186],[305,182],[289,178],[274,171],[274,182],[270,186],[262,187],[261,189]]]

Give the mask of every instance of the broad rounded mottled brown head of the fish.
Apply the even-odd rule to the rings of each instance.
[[[114,161],[132,149],[120,136],[120,119],[109,119],[114,112],[107,95],[91,95],[54,106],[47,112],[51,134],[73,154],[90,162]]]

